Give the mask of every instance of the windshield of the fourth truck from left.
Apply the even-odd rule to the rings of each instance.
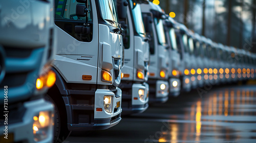
[[[163,29],[163,20],[160,18],[154,18],[155,25],[156,25],[156,31],[157,31],[157,37],[159,44],[164,45],[166,44],[165,41],[165,35],[164,35],[164,29]]]

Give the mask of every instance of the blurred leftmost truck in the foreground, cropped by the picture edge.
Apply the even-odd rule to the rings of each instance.
[[[52,142],[53,1],[0,2],[0,142]]]

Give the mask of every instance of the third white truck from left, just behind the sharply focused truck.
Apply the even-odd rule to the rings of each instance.
[[[145,33],[140,3],[148,1],[117,0],[118,22],[121,23],[124,44],[122,114],[141,113],[148,108],[148,63],[150,50]],[[125,15],[127,10],[127,15]]]

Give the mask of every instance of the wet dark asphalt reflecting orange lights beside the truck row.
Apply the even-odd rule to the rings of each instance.
[[[65,142],[256,142],[256,85],[195,90]]]

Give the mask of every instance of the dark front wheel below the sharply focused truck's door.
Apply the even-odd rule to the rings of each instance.
[[[53,142],[63,142],[70,135],[70,131],[67,127],[67,120],[65,117],[61,115],[58,110],[57,104],[53,101],[53,99],[46,94],[45,100],[54,104],[54,141]],[[63,117],[63,121],[61,122],[60,118]],[[65,122],[66,121],[66,122]]]

